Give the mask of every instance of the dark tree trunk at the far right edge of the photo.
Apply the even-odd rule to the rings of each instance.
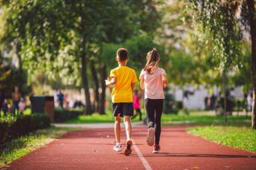
[[[251,110],[251,126],[256,129],[256,7],[254,0],[247,0],[251,31],[251,61],[253,66],[253,108]]]

